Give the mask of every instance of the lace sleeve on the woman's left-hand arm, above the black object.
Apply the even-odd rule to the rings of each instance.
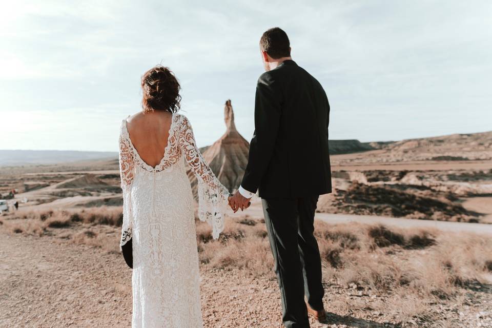
[[[126,121],[121,123],[119,135],[119,174],[121,178],[121,190],[123,191],[123,224],[121,226],[121,240],[119,249],[132,238],[132,200],[131,187],[135,173],[135,161],[130,144]]]

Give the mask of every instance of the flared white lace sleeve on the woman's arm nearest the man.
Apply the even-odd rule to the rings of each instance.
[[[220,183],[196,146],[190,122],[181,116],[179,142],[185,159],[198,180],[198,216],[212,226],[214,239],[224,230],[229,191]]]

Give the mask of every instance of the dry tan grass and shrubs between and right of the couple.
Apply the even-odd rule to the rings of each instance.
[[[449,298],[459,286],[485,283],[484,273],[492,269],[492,241],[471,234],[316,221],[315,235],[325,280],[385,294]],[[200,261],[212,268],[273,275],[273,256],[260,221],[228,219],[218,241],[206,223],[198,222],[197,240]]]

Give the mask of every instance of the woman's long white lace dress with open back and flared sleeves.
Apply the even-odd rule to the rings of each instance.
[[[173,114],[165,155],[155,168],[138,155],[126,122],[119,137],[120,245],[132,238],[132,327],[202,327],[194,200],[185,161],[198,178],[199,217],[211,224],[214,238],[224,227],[229,192],[203,160],[185,116]]]

